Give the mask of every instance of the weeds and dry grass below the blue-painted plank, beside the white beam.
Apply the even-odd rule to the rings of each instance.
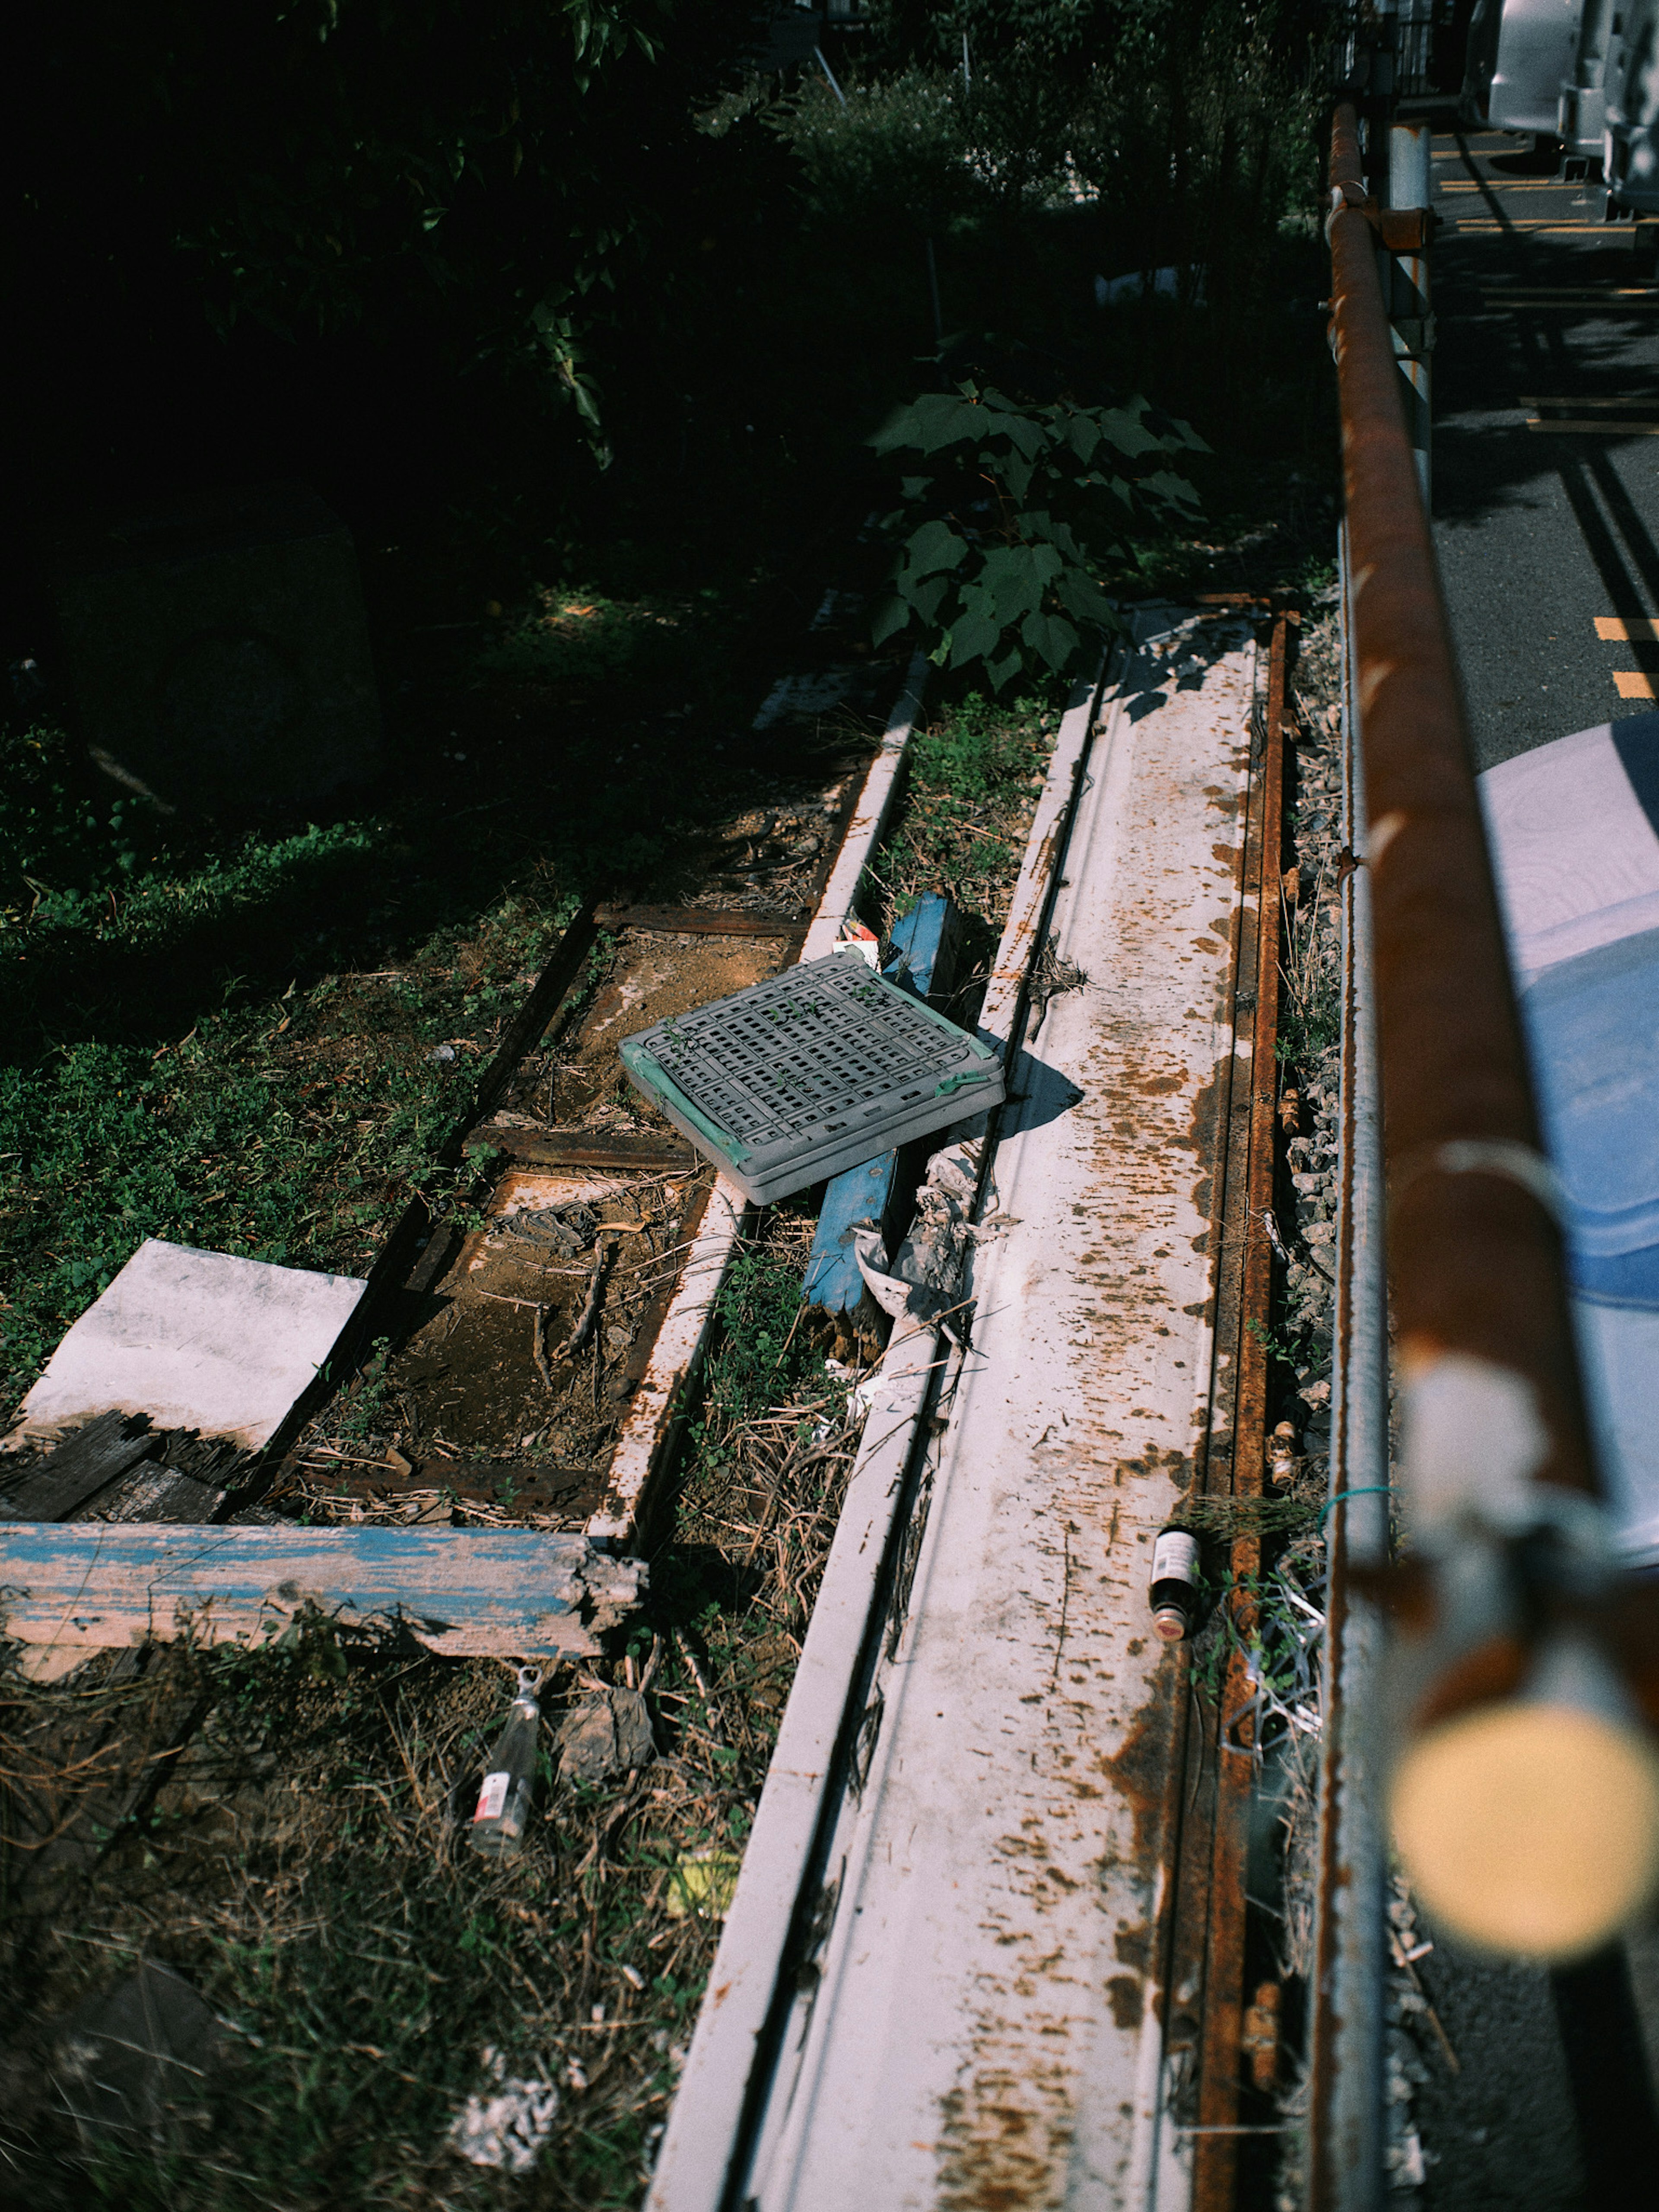
[[[201,2117],[142,2154],[80,2141],[46,2104],[18,2115],[33,2203],[637,2203],[858,1440],[845,1385],[790,1336],[810,1239],[810,1214],[785,1206],[739,1256],[650,1615],[619,1657],[544,1688],[538,1818],[518,1858],[465,1840],[511,1694],[498,1663],[321,1619],[263,1650],[157,1657],[150,1699],[166,1679],[208,1719],[104,1860],[62,1878],[49,1927],[13,1891],[7,1964],[35,1993],[35,2064],[53,2020],[153,1958],[223,2022],[223,2066],[190,2099]],[[142,1725],[142,1686],[100,1692],[100,1672],[0,1686],[0,1765],[27,1767],[35,1794],[55,1730],[84,1734],[100,1697],[104,1719]],[[553,1772],[553,1730],[593,1681],[646,1683],[661,1752],[602,1787]],[[7,1834],[22,1825],[13,1783]],[[487,2048],[560,2093],[533,2172],[473,2168],[447,2141],[489,2088]]]

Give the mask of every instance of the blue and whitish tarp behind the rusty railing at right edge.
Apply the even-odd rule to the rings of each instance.
[[[1632,1562],[1659,1562],[1659,714],[1480,776],[1584,1385]]]

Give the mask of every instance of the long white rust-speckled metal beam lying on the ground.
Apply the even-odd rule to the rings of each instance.
[[[1190,2197],[1146,1562],[1210,1422],[1254,646],[1137,637],[1066,717],[987,1002],[973,1349],[883,1363],[653,2212]],[[1024,1035],[1044,940],[1086,980]]]

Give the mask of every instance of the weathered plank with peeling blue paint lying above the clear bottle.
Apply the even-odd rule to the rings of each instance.
[[[405,1624],[447,1657],[595,1655],[635,1610],[639,1559],[531,1528],[179,1528],[146,1522],[0,1531],[0,1615],[22,1644],[146,1637],[257,1641],[303,1606]]]

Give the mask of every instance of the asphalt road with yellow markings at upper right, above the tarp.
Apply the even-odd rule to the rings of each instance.
[[[1659,644],[1597,617],[1659,615],[1659,288],[1599,184],[1540,177],[1498,133],[1433,155],[1433,535],[1491,768],[1655,710]],[[1548,427],[1584,420],[1608,427]]]

